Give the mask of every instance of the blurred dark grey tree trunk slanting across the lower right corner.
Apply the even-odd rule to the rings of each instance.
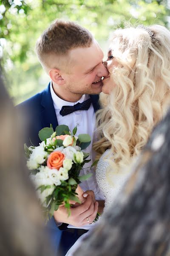
[[[170,256],[170,111],[75,256]]]

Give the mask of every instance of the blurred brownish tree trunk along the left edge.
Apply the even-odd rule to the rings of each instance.
[[[20,121],[0,70],[0,255],[51,256],[42,210],[24,161]]]

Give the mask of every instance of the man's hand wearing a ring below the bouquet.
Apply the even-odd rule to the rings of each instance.
[[[64,222],[75,227],[81,227],[94,221],[98,211],[98,205],[98,202],[95,201],[94,203],[94,197],[88,195],[82,204],[71,208],[71,215],[69,217],[67,209],[63,205],[60,205],[58,210],[54,211],[54,219],[60,223]],[[90,222],[87,221],[87,218]]]

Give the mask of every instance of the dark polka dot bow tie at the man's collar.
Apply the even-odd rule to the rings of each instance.
[[[73,113],[74,111],[78,110],[88,110],[91,105],[91,99],[85,100],[85,102],[77,103],[74,106],[62,106],[62,109],[59,111],[60,115],[66,116],[68,114]]]

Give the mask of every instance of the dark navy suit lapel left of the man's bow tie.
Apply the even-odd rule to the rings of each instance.
[[[52,124],[55,130],[56,126],[58,125],[58,121],[53,105],[53,100],[51,97],[50,83],[48,84],[48,87],[44,90],[42,94],[41,105],[41,121],[43,127],[50,127],[50,124]]]

